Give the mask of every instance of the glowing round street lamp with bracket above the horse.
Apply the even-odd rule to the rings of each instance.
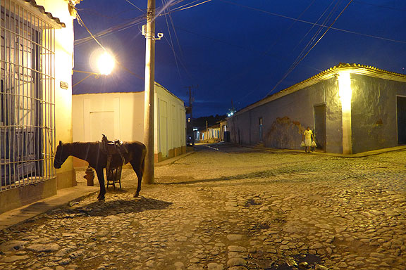
[[[97,58],[95,57],[96,55]],[[73,70],[73,72],[87,73],[88,75],[85,78],[81,79],[79,82],[73,84],[72,87],[77,86],[92,75],[94,75],[94,78],[96,79],[99,77],[99,75],[110,75],[110,73],[113,71],[114,65],[116,64],[116,60],[107,51],[103,51],[102,53],[100,53],[100,51],[96,51],[90,56],[90,64],[92,65],[94,63],[96,63],[97,70],[99,70],[99,72]]]

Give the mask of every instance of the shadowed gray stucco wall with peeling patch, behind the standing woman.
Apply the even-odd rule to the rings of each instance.
[[[335,77],[231,117],[231,141],[238,143],[235,133],[240,129],[240,143],[259,143],[262,117],[264,146],[301,149],[303,131],[307,126],[314,130],[314,105],[320,104],[326,104],[326,151],[342,153],[341,104]]]

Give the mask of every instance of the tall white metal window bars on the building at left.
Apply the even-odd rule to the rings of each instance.
[[[55,177],[55,31],[0,0],[0,192]]]

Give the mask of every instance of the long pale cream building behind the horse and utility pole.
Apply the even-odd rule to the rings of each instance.
[[[186,114],[180,98],[155,84],[155,161],[186,152]],[[73,95],[73,141],[144,140],[144,92]],[[86,163],[75,159],[75,167]]]

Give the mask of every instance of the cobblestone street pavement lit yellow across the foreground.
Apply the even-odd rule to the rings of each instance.
[[[156,167],[141,198],[124,169],[105,202],[0,231],[0,269],[405,270],[405,150],[200,148]]]

